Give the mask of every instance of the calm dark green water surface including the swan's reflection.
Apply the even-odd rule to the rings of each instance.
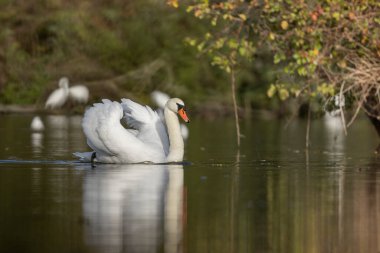
[[[0,115],[0,252],[379,252],[377,136],[315,120],[193,120],[189,165],[77,163],[79,116]]]

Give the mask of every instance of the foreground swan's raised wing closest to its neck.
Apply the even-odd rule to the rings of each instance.
[[[166,156],[169,152],[169,138],[157,112],[130,99],[121,101],[127,124],[138,130],[136,137],[144,143],[162,149]]]

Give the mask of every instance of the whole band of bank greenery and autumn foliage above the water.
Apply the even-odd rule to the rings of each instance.
[[[42,107],[67,76],[87,85],[92,101],[148,103],[158,89],[225,113],[233,67],[247,112],[282,114],[297,101],[294,108],[321,111],[354,105],[377,119],[377,1],[3,0],[0,7],[1,104]],[[345,108],[336,107],[337,95]]]

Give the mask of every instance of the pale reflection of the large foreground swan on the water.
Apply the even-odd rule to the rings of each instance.
[[[182,165],[104,164],[86,175],[89,245],[104,252],[182,252]]]

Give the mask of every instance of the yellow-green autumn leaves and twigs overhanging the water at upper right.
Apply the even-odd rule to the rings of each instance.
[[[229,71],[239,59],[270,48],[283,69],[269,96],[328,98],[341,93],[364,101],[378,93],[380,2],[377,0],[191,0],[180,2],[210,30],[186,41]],[[292,82],[283,80],[292,76]],[[287,77],[287,79],[288,79]],[[286,91],[285,91],[286,90]],[[364,97],[363,97],[364,96]],[[361,105],[360,105],[361,106]]]

